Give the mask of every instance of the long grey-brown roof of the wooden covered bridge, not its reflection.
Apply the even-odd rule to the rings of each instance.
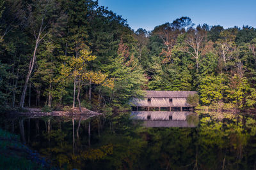
[[[159,98],[187,98],[189,94],[196,94],[196,91],[155,91],[144,90],[145,97],[159,97]]]

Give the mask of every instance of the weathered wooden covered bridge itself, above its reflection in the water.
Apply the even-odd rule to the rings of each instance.
[[[131,101],[132,111],[192,111],[194,106],[187,103],[195,91],[144,91],[145,97]]]

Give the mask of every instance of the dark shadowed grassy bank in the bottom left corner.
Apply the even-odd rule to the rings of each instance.
[[[0,169],[48,169],[45,165],[19,136],[0,129]]]

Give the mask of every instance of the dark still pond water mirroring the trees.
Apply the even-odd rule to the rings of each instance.
[[[192,127],[145,127],[116,117],[1,118],[60,169],[256,169],[256,120],[197,113]],[[155,124],[155,122],[154,122]]]

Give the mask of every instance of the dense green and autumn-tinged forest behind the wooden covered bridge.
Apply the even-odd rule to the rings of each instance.
[[[196,90],[201,106],[256,106],[256,29],[189,17],[134,31],[92,0],[0,0],[0,108],[129,110],[141,90]]]

